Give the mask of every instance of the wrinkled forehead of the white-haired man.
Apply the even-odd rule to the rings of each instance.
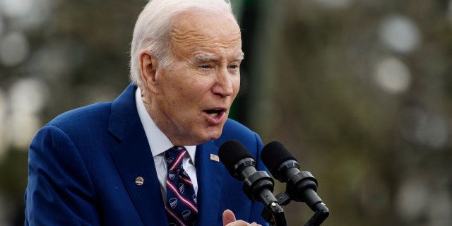
[[[240,28],[234,17],[224,13],[189,11],[179,13],[171,32],[173,52],[243,54]]]

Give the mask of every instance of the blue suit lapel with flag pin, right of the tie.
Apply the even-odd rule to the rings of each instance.
[[[221,162],[210,160],[210,154],[218,156],[218,146],[212,141],[196,148],[196,174],[198,177],[197,225],[213,225],[220,213],[220,197],[225,169]]]

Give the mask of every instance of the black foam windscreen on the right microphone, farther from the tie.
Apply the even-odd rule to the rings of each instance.
[[[295,157],[285,148],[283,143],[279,141],[272,141],[265,145],[261,152],[261,159],[263,164],[266,165],[273,177],[279,177],[278,167],[287,160],[297,160]]]

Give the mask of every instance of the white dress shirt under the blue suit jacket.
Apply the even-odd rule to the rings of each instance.
[[[160,183],[160,190],[162,191],[163,201],[167,198],[167,162],[165,161],[164,153],[174,145],[169,141],[169,138],[157,127],[153,119],[146,111],[141,97],[141,89],[137,88],[135,92],[136,109],[140,116],[141,124],[143,124],[146,137],[148,138],[150,151],[153,153],[155,169],[157,169],[158,182]],[[195,194],[198,194],[198,180],[196,179],[195,168],[195,153],[196,146],[184,146],[189,155],[184,156],[182,165],[189,174],[191,182],[193,183]]]

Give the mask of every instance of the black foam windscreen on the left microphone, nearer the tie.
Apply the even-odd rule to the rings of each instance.
[[[218,150],[218,157],[225,165],[227,171],[234,175],[234,165],[244,158],[254,159],[253,155],[245,148],[245,146],[236,140],[230,140],[223,143]]]

